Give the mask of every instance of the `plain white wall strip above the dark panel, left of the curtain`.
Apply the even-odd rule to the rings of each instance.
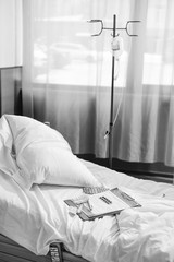
[[[22,0],[0,1],[0,68],[22,66]]]

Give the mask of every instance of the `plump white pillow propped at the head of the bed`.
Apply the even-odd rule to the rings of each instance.
[[[18,166],[13,179],[22,188],[30,189],[34,183],[101,186],[58,131],[28,117],[5,115],[5,118],[12,130]]]

